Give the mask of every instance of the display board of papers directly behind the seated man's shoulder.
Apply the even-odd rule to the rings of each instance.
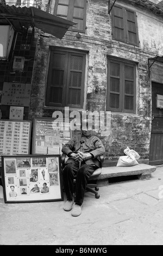
[[[70,124],[56,128],[53,122],[54,118],[34,117],[32,154],[61,154],[62,145],[71,138]]]

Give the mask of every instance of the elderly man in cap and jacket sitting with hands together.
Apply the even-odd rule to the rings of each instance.
[[[92,135],[92,126],[86,126],[83,121],[82,133],[74,136],[62,147],[62,153],[68,156],[66,166],[62,172],[64,189],[67,201],[64,205],[65,211],[70,211],[73,205],[73,179],[76,178],[76,199],[72,210],[72,216],[82,213],[84,193],[87,181],[92,173],[100,167],[98,156],[105,153],[105,148],[97,136]]]

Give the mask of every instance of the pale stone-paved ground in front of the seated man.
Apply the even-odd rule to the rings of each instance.
[[[162,245],[160,185],[163,167],[151,180],[102,186],[99,199],[85,194],[78,217],[62,209],[63,201],[5,204],[0,199],[0,245]]]

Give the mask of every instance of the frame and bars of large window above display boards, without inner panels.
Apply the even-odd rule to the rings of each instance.
[[[62,84],[62,102],[61,103],[55,103],[50,102],[50,93],[51,93],[51,75],[53,70],[53,57],[52,55],[55,53],[59,54],[65,54],[65,65],[64,65],[64,77],[63,77],[63,84]],[[50,47],[49,48],[49,65],[47,70],[47,85],[46,85],[46,92],[45,92],[45,105],[47,107],[70,107],[70,108],[83,108],[84,107],[84,88],[85,88],[85,73],[86,73],[86,54],[85,51],[78,51],[78,50],[72,50],[69,48],[58,48],[58,47]],[[68,104],[68,92],[70,89],[73,89],[73,87],[69,86],[70,81],[70,64],[71,64],[71,57],[72,56],[81,56],[83,57],[83,63],[82,63],[82,79],[81,79],[81,93],[80,93],[80,104],[74,105],[74,104]],[[55,87],[55,85],[54,85]],[[77,89],[74,87],[74,89]]]

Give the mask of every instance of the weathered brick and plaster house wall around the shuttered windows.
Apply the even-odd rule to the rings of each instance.
[[[117,3],[123,4],[123,1]],[[125,1],[129,2],[129,1]],[[126,4],[126,3],[125,3]],[[148,76],[148,58],[154,57],[163,41],[163,19],[152,11],[137,5],[127,5],[137,10],[140,47],[123,44],[111,38],[111,17],[108,15],[108,1],[88,0],[86,33],[67,32],[62,40],[40,36],[37,45],[30,105],[33,115],[52,117],[55,108],[45,106],[46,76],[48,71],[49,46],[68,47],[87,51],[85,79],[85,108],[89,111],[105,111],[107,86],[107,56],[132,60],[137,64],[136,114],[111,113],[111,134],[101,137],[105,148],[105,160],[117,160],[128,146],[134,148],[146,160],[149,157],[151,136],[151,80]],[[47,5],[45,6],[45,8]],[[52,11],[54,2],[48,7]],[[155,71],[157,74],[157,71]],[[156,76],[156,75],[155,75]],[[162,77],[162,75],[160,75]],[[160,78],[162,82],[162,78]],[[95,88],[98,92],[95,92]],[[60,109],[59,109],[60,110]],[[73,109],[70,109],[72,111]]]

